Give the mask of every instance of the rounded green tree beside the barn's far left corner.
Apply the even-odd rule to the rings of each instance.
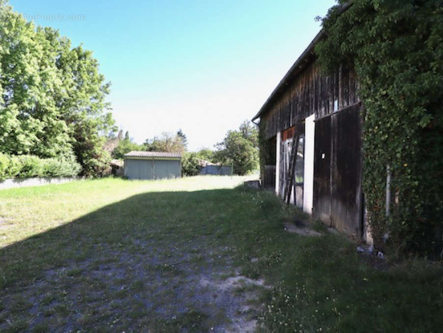
[[[247,121],[238,131],[228,131],[216,146],[214,161],[232,164],[234,173],[244,175],[258,167],[258,131]]]

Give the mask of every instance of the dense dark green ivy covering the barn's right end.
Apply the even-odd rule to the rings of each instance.
[[[354,66],[364,105],[363,193],[374,241],[440,254],[443,1],[354,0],[322,18],[326,72]],[[387,173],[389,213],[386,213]]]

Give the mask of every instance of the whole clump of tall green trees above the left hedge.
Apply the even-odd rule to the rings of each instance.
[[[75,155],[83,175],[101,174],[105,134],[115,130],[109,87],[91,51],[0,1],[0,152]]]

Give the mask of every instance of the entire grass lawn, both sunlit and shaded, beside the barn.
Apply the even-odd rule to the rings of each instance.
[[[442,331],[441,265],[288,233],[245,179],[0,191],[0,332]]]

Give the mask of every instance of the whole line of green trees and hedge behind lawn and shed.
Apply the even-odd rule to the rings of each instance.
[[[258,166],[257,130],[247,121],[215,151],[188,152],[182,130],[141,145],[129,133],[116,135],[110,86],[92,51],[73,47],[54,28],[36,27],[0,0],[0,178],[101,176],[112,157],[131,150],[180,152],[186,175],[198,173],[199,159],[232,164],[238,174]]]

